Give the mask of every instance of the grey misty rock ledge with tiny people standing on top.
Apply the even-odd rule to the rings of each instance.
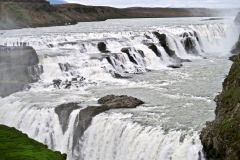
[[[43,68],[32,47],[0,46],[0,96],[8,96],[36,82]]]

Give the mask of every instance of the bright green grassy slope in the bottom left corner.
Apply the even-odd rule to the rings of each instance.
[[[15,128],[0,125],[0,160],[66,160],[66,157]]]

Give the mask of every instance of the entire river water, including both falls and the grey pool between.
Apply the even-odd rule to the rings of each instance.
[[[232,18],[107,20],[0,34],[1,44],[32,46],[43,67],[31,88],[0,98],[0,123],[69,160],[204,159],[199,132],[214,118],[213,99],[231,65],[238,39]],[[95,116],[80,139],[73,135],[81,109],[73,110],[63,132],[55,107],[84,107],[107,94],[146,103]]]

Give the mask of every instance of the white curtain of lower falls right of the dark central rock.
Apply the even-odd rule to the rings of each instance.
[[[204,159],[197,133],[169,131],[129,121],[131,115],[101,114],[83,136],[82,158],[91,160]]]

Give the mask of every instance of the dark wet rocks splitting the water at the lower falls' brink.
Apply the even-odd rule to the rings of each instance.
[[[91,124],[94,116],[108,111],[110,109],[119,109],[119,108],[136,108],[137,106],[143,104],[144,102],[129,96],[114,96],[108,95],[98,100],[99,105],[97,106],[88,106],[80,110],[78,118],[75,121],[75,130],[74,130],[74,143],[73,147],[76,146],[78,140],[83,135],[84,131]],[[82,108],[78,103],[69,103],[63,104],[55,108],[62,129],[65,132],[68,126],[69,115],[73,110]]]

